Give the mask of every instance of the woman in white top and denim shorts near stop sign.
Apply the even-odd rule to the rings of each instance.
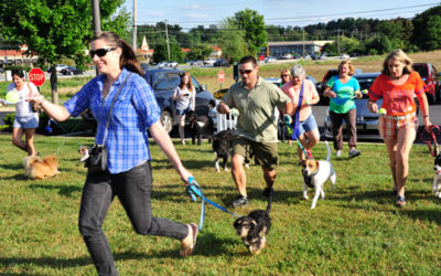
[[[26,151],[28,156],[36,156],[34,147],[35,129],[39,127],[39,114],[33,110],[29,98],[40,95],[33,83],[24,81],[21,70],[12,70],[12,82],[7,92],[18,93],[15,103],[15,119],[12,125],[12,144],[19,149]],[[13,89],[15,89],[13,92]],[[25,141],[22,140],[23,135]]]

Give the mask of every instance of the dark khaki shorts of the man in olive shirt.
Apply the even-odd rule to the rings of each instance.
[[[258,142],[243,137],[236,137],[233,141],[233,156],[239,155],[250,158],[254,153],[257,164],[270,170],[279,166],[277,142]]]

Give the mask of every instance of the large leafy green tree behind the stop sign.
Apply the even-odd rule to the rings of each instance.
[[[122,0],[101,0],[103,26],[125,34],[129,17],[125,10],[111,17]],[[84,52],[93,36],[92,2],[85,0],[8,0],[0,2],[1,35],[10,42],[26,44],[42,62],[52,66],[51,87],[57,103],[57,78],[54,65],[63,57],[85,62]],[[104,29],[106,30],[106,29]]]

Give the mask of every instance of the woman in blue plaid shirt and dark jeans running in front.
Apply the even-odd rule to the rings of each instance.
[[[90,108],[98,123],[95,142],[100,145],[111,102],[121,88],[111,110],[105,140],[108,151],[107,170],[104,173],[88,171],[79,211],[79,231],[98,274],[118,274],[101,229],[115,195],[119,198],[138,234],[180,240],[180,254],[187,256],[193,253],[197,226],[194,223],[183,224],[152,216],[152,173],[147,129],[182,180],[187,182],[192,174],[183,167],[170,136],[160,123],[160,109],[151,87],[142,78],[143,72],[135,52],[116,33],[101,32],[93,38],[89,53],[100,75],[63,106],[51,104],[44,98],[35,102],[58,121],[76,117]]]

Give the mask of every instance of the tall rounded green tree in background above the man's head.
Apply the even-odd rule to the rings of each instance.
[[[244,31],[248,52],[257,54],[261,46],[267,42],[267,31],[265,29],[263,15],[255,10],[245,9],[236,12],[233,18],[227,19],[229,24]]]

